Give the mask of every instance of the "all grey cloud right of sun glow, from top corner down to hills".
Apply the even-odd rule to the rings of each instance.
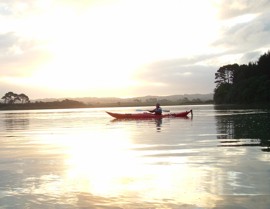
[[[191,58],[150,63],[137,72],[137,79],[146,80],[148,86],[156,90],[175,88],[184,92],[189,92],[189,89],[211,92],[215,88],[214,74],[219,67],[256,61],[261,52],[270,46],[269,7],[269,1],[264,0],[221,1],[221,35],[212,42],[214,53],[202,52]]]

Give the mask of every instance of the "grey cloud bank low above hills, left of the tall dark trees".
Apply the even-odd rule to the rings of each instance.
[[[154,62],[141,68],[136,79],[146,81],[148,89],[163,94],[209,93],[215,88],[214,73],[217,66],[198,65],[211,56],[193,59],[173,59]]]

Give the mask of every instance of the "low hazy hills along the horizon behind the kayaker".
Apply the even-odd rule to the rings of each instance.
[[[177,102],[183,100],[200,100],[202,102],[212,101],[213,94],[184,94],[184,95],[170,95],[170,96],[143,96],[143,97],[131,97],[131,98],[117,98],[117,97],[78,97],[78,98],[47,98],[47,99],[37,99],[32,100],[32,102],[53,102],[62,101],[65,99],[71,99],[74,101],[83,102],[87,105],[102,105],[102,104],[112,104],[112,103],[151,103],[154,102]]]

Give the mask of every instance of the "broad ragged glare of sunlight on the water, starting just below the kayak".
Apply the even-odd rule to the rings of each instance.
[[[181,121],[188,122],[168,119],[165,124],[178,122],[175,124],[180,125]],[[153,205],[168,208],[184,202],[188,208],[196,208],[197,204],[213,207],[220,198],[208,189],[208,172],[189,165],[192,150],[185,153],[181,144],[175,145],[176,141],[170,141],[171,135],[166,132],[153,134],[155,129],[149,129],[153,125],[158,127],[154,120],[114,121],[102,130],[66,129],[64,134],[42,134],[39,140],[43,149],[49,151],[48,155],[52,154],[53,147],[62,150],[65,172],[60,176],[45,174],[28,178],[25,182],[35,182],[32,194],[50,194],[60,202],[59,198],[66,195],[71,202],[76,200],[74,194],[83,197],[79,203],[72,204],[94,202],[108,204],[108,208],[113,208],[113,204],[134,208],[134,203],[139,202],[143,208]],[[163,145],[158,144],[161,142]],[[175,153],[172,153],[173,146]],[[162,160],[167,163],[157,163]]]

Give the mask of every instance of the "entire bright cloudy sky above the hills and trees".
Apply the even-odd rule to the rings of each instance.
[[[269,0],[0,0],[0,96],[208,94],[270,49]]]

